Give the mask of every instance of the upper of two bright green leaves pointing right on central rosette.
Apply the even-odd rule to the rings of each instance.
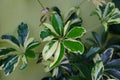
[[[78,37],[81,37],[85,32],[86,32],[85,29],[82,27],[74,27],[68,32],[66,37],[67,38],[78,38]]]

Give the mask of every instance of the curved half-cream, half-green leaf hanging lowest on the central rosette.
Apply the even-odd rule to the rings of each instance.
[[[65,49],[62,43],[58,44],[58,47],[56,49],[55,55],[54,55],[54,62],[50,64],[50,68],[53,69],[56,66],[58,66],[64,56]]]

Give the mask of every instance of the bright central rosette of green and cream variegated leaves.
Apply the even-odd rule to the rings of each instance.
[[[45,61],[53,59],[53,62],[48,66],[49,70],[58,66],[65,56],[65,50],[73,53],[84,52],[84,45],[76,40],[80,38],[86,30],[80,26],[74,26],[70,28],[71,21],[63,23],[61,16],[57,13],[53,13],[50,23],[43,23],[46,27],[40,33],[40,37],[43,41],[48,41],[43,48],[42,56]]]

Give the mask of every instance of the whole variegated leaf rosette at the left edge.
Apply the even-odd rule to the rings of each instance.
[[[1,37],[0,69],[4,70],[6,76],[15,70],[20,61],[22,61],[20,69],[25,69],[28,64],[27,57],[35,58],[33,48],[40,44],[34,38],[28,38],[30,31],[27,24],[21,23],[17,32],[18,39],[12,35],[2,35]]]

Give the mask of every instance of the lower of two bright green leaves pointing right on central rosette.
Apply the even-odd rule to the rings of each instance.
[[[73,53],[82,54],[84,52],[83,44],[77,40],[72,40],[72,39],[64,40],[64,46],[66,49],[68,49]]]

